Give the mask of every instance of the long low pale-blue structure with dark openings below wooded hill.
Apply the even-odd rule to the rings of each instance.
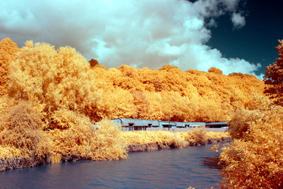
[[[205,122],[169,122],[168,121],[157,121],[157,120],[136,120],[117,118],[112,119],[112,122],[116,122],[121,125],[125,131],[133,130],[147,130],[148,128],[189,128],[189,127],[206,127]]]

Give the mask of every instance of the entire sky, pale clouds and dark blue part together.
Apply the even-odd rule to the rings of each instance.
[[[0,40],[71,46],[106,67],[241,72],[259,79],[283,39],[280,1],[0,1]]]

